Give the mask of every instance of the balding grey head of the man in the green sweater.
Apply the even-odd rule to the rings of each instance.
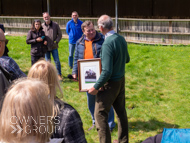
[[[112,30],[113,29],[113,21],[110,16],[102,15],[98,19],[98,26],[102,26],[104,29]]]

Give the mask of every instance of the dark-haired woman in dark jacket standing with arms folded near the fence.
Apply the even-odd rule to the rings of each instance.
[[[33,21],[32,27],[28,31],[26,43],[31,44],[30,54],[32,65],[40,58],[44,58],[47,52],[47,40],[42,29],[41,21],[36,19]]]

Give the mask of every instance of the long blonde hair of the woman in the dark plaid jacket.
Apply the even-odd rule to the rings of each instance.
[[[56,98],[57,88],[60,91],[60,94],[63,96],[63,92],[61,90],[59,79],[57,76],[57,71],[53,64],[45,60],[39,60],[36,62],[28,72],[28,78],[37,78],[44,81],[49,86],[50,90],[50,99],[52,105],[54,105],[53,115],[56,116],[59,112],[59,108],[54,103],[54,99]]]

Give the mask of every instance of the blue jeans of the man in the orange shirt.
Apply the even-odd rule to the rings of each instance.
[[[94,109],[95,109],[96,96],[91,95],[88,92],[86,92],[86,94],[87,94],[88,109],[90,110],[90,114],[92,116],[92,123],[94,125],[95,124]],[[113,107],[111,107],[110,112],[109,112],[108,124],[109,124],[110,129],[113,129],[115,127]]]

